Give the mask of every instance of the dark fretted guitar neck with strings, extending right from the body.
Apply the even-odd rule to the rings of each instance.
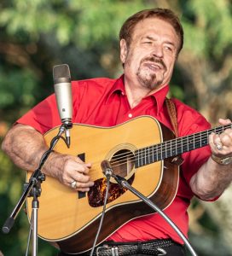
[[[177,137],[164,143],[137,149],[135,152],[135,166],[136,168],[146,166],[156,161],[176,156],[177,154],[183,154],[196,148],[205,147],[209,144],[209,135],[212,132],[220,134],[229,128],[232,128],[232,124],[218,126],[186,137]]]

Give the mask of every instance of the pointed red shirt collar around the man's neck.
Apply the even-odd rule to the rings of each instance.
[[[169,85],[166,84],[164,87],[155,91],[153,94],[145,97],[145,98],[151,97],[154,99],[154,104],[156,103],[156,105],[157,105],[157,113],[159,113],[159,111],[163,108],[163,104],[165,102],[165,97],[167,96],[168,91],[169,91]],[[109,98],[114,93],[117,93],[117,92],[120,92],[122,95],[125,95],[124,75],[120,76],[119,79],[117,79],[115,81],[115,83],[113,84],[112,89],[108,93],[107,102],[108,102]]]

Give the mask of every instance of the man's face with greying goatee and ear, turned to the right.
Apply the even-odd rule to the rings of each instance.
[[[177,58],[179,38],[165,20],[148,18],[136,24],[131,44],[120,42],[125,79],[138,82],[148,90],[168,84]]]

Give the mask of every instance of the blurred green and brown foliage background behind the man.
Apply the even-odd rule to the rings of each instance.
[[[52,69],[67,63],[72,79],[117,78],[119,29],[141,9],[170,8],[184,27],[184,46],[171,80],[171,96],[198,109],[212,125],[232,118],[231,0],[1,0],[0,143],[9,127],[54,92]],[[26,173],[0,150],[0,226],[22,193]],[[232,186],[216,202],[194,200],[189,239],[200,256],[232,255]],[[23,210],[4,255],[25,255],[28,221]],[[39,239],[38,255],[55,255]]]

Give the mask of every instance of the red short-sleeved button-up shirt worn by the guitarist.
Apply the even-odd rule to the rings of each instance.
[[[73,123],[88,125],[113,126],[141,115],[151,115],[160,123],[172,129],[171,120],[165,108],[165,97],[169,87],[166,85],[153,95],[146,96],[135,107],[128,102],[124,77],[119,79],[88,79],[72,82],[73,90]],[[189,108],[183,102],[173,99],[177,108],[179,137],[204,131],[210,128],[209,123],[200,113]],[[55,95],[51,95],[35,108],[18,119],[18,123],[31,125],[42,134],[51,128],[61,125],[56,108]],[[187,208],[193,193],[189,188],[189,180],[211,154],[208,146],[183,154],[177,195],[165,213],[187,236]],[[113,233],[109,239],[113,241],[147,241],[156,238],[168,238],[183,243],[159,214],[136,218]]]

